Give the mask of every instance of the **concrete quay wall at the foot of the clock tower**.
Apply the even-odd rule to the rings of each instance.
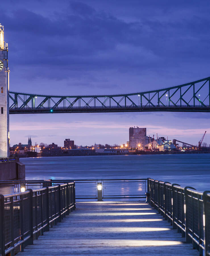
[[[19,159],[0,163],[0,180],[25,179],[25,165]]]

